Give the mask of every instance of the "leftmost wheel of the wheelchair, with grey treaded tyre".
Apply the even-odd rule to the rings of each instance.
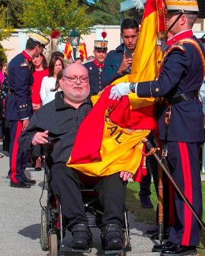
[[[44,209],[41,209],[41,229],[40,229],[40,244],[42,251],[49,250],[49,241],[48,241],[48,215],[47,215],[47,207],[44,206]]]

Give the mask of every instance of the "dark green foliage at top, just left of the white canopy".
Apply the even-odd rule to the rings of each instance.
[[[120,25],[120,2],[122,0],[99,0],[90,7],[94,17],[92,25]]]

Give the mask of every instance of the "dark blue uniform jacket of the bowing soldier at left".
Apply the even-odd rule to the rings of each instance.
[[[27,66],[22,64],[27,63]],[[22,53],[16,55],[8,66],[8,95],[5,107],[5,118],[8,120],[22,120],[31,117],[32,103],[30,86],[33,75],[29,62]]]

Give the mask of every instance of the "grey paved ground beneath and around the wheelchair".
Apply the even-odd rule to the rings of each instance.
[[[2,144],[0,143],[0,152]],[[4,152],[5,153],[5,152]],[[36,179],[37,185],[29,189],[10,188],[7,179],[9,157],[0,159],[0,256],[40,256],[47,255],[40,248],[40,205],[44,172],[35,172],[27,168],[27,177]],[[45,202],[46,192],[44,192]],[[44,203],[43,203],[44,204]],[[150,253],[154,243],[146,236],[145,231],[150,226],[135,221],[129,214],[131,226],[131,244],[133,251],[128,256],[158,256]],[[100,232],[93,230],[94,248],[89,255],[103,255],[100,247]],[[68,235],[67,235],[68,237]],[[66,242],[69,241],[69,237]],[[96,249],[97,248],[97,249]],[[73,254],[72,254],[73,255]],[[87,254],[78,254],[87,255]]]

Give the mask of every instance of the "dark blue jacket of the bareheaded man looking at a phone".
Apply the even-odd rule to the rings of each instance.
[[[103,67],[102,84],[103,86],[109,86],[112,81],[130,73],[124,71],[122,75],[118,74],[118,69],[122,63],[124,54],[124,43],[120,44],[114,51],[109,51],[105,59],[105,66]]]

